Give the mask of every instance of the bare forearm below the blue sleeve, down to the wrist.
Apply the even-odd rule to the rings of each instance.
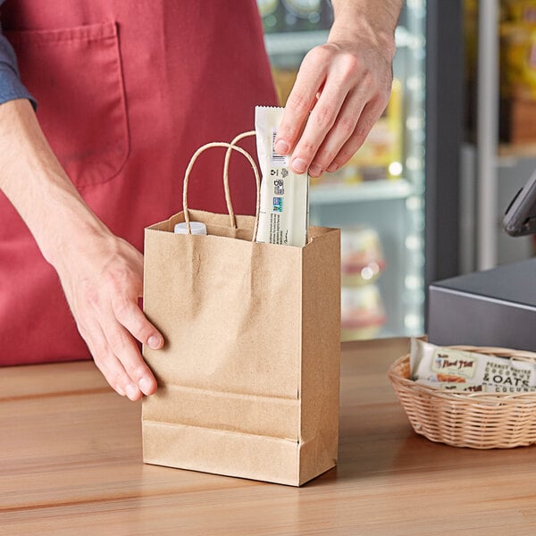
[[[80,231],[108,232],[63,171],[27,99],[0,105],[0,188],[51,264]]]

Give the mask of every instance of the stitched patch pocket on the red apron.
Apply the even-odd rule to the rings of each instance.
[[[117,26],[6,31],[46,138],[77,188],[113,179],[129,154]]]

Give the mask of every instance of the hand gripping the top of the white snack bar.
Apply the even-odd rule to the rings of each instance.
[[[391,35],[363,25],[334,24],[328,42],[314,47],[300,66],[274,146],[290,155],[294,172],[320,177],[338,170],[388,104],[394,28]]]

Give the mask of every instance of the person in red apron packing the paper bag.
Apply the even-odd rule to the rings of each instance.
[[[143,229],[179,212],[197,147],[276,104],[255,0],[0,4],[0,364],[93,357],[138,400],[156,389],[139,343],[164,344],[139,306]],[[332,4],[275,140],[313,177],[346,163],[387,105],[401,8]],[[236,160],[235,210],[252,214]],[[221,168],[203,155],[190,205],[224,211]]]

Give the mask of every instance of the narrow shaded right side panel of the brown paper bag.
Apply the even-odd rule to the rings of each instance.
[[[336,465],[339,445],[340,231],[310,233],[302,259],[299,484]]]

